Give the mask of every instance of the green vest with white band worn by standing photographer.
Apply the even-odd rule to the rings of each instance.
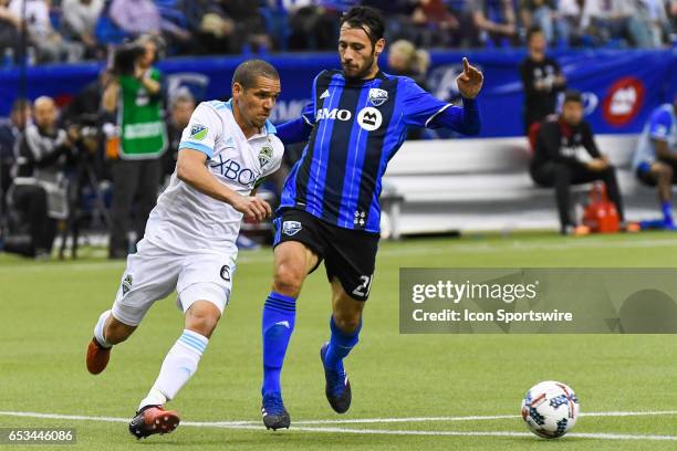
[[[160,82],[157,69],[150,78]],[[167,129],[163,120],[162,96],[149,95],[140,80],[131,75],[119,77],[121,102],[117,124],[121,126],[119,157],[149,159],[159,157],[167,148]]]

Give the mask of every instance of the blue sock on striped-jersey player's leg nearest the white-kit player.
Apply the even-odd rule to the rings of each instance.
[[[263,387],[261,394],[281,392],[280,371],[294,331],[296,300],[271,292],[263,305]]]

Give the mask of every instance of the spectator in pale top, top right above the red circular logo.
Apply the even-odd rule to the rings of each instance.
[[[601,43],[628,38],[632,45],[652,46],[652,33],[637,15],[634,0],[585,0],[581,27]]]

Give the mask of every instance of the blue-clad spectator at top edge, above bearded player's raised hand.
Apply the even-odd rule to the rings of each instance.
[[[517,18],[512,0],[472,0],[470,8],[473,36],[472,44],[504,45],[518,39]]]

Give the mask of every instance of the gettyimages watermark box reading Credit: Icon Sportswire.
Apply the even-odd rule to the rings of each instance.
[[[674,269],[400,269],[404,334],[673,334]]]

